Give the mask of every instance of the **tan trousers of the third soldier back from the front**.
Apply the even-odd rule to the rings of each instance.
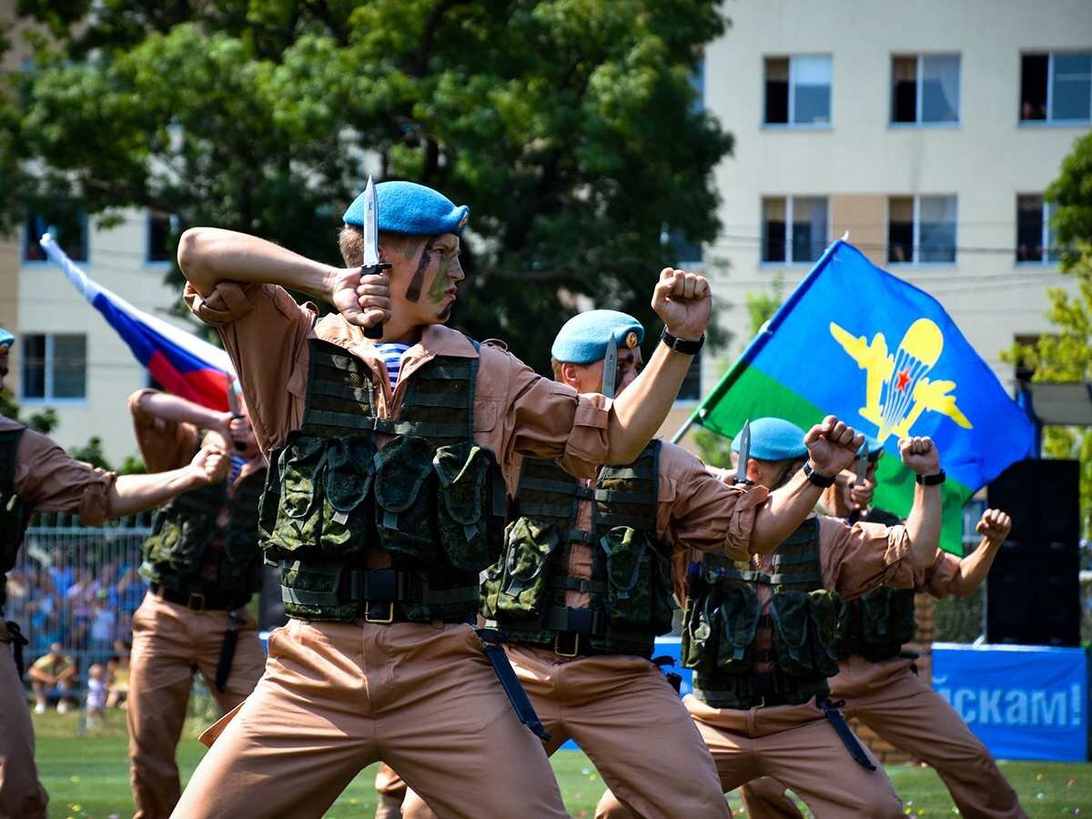
[[[814,701],[748,711],[710,708],[692,695],[682,703],[713,753],[724,791],[757,776],[775,775],[790,784],[818,819],[903,815],[883,769],[867,771],[854,762]],[[633,812],[609,791],[595,809],[596,817]]]

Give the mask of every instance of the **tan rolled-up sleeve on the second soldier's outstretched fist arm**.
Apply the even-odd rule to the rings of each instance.
[[[755,517],[769,489],[717,480],[697,456],[672,443],[661,446],[660,475],[657,529],[673,549],[748,558]]]

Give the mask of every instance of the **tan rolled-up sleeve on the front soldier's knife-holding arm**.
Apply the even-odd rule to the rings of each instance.
[[[193,314],[219,332],[261,448],[283,443],[301,423],[307,339],[318,308],[272,284],[219,282],[207,296],[187,285],[185,297]]]

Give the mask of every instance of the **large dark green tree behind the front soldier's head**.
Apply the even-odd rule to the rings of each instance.
[[[0,105],[0,222],[141,205],[336,263],[366,173],[413,179],[472,206],[453,323],[545,371],[573,295],[652,329],[661,233],[716,235],[732,140],[692,78],[720,7],[20,0],[56,45]]]

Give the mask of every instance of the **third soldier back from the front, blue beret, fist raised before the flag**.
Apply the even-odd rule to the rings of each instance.
[[[791,479],[807,455],[804,440],[788,422],[753,422],[750,458],[740,458],[747,478],[773,488]],[[936,557],[943,478],[937,450],[927,438],[904,439],[900,449],[918,475],[905,526],[851,527],[812,515],[749,563],[695,556],[681,649],[695,669],[693,693],[684,704],[724,791],[775,774],[818,817],[902,816],[890,780],[846,727],[827,685],[838,670],[839,600],[880,583],[909,585],[913,568]],[[810,464],[803,471],[821,488],[834,480]],[[628,815],[609,792],[596,809],[602,817]]]

